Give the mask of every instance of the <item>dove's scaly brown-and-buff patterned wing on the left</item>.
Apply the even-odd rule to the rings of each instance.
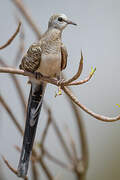
[[[40,65],[41,53],[40,43],[32,44],[29,47],[27,54],[23,57],[19,68],[24,71],[35,72]]]

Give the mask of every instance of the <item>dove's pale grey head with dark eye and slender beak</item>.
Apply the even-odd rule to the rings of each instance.
[[[70,21],[65,14],[55,14],[51,16],[48,28],[57,28],[63,30],[68,24],[77,25],[76,23]]]

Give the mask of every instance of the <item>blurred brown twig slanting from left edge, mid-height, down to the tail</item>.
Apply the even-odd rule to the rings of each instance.
[[[14,116],[14,114],[12,113],[10,107],[7,105],[7,103],[5,102],[5,100],[2,98],[2,96],[0,95],[0,103],[3,105],[3,107],[5,108],[5,110],[8,112],[8,114],[10,115],[13,123],[15,124],[15,126],[17,127],[17,129],[19,130],[19,132],[21,133],[21,135],[23,135],[23,130],[22,127],[20,126],[20,124],[18,123],[16,117]]]

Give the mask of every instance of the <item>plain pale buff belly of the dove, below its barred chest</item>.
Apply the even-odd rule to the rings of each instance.
[[[61,70],[61,53],[42,54],[40,67],[37,70],[45,76],[54,77]]]

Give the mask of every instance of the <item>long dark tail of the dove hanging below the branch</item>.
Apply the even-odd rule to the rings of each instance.
[[[22,145],[22,152],[18,165],[18,176],[25,177],[27,175],[30,154],[36,134],[39,114],[42,106],[45,84],[31,84],[31,90],[27,107],[27,118]]]

